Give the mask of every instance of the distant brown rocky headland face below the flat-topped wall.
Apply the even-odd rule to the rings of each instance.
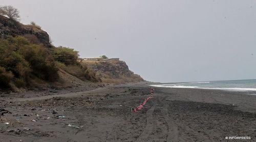
[[[124,61],[83,61],[104,83],[120,84],[144,81],[134,74]]]

